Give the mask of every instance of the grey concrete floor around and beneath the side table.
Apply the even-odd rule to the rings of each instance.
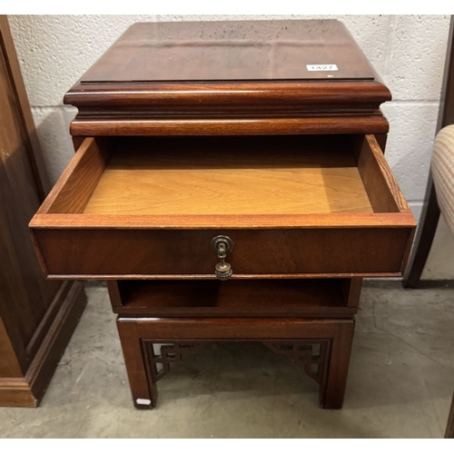
[[[89,302],[38,409],[0,408],[2,438],[441,438],[454,390],[454,286],[366,281],[342,410],[261,344],[215,343],[135,410],[107,291]]]

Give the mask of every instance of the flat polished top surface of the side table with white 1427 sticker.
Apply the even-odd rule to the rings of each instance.
[[[81,82],[374,78],[341,22],[286,20],[135,24]]]

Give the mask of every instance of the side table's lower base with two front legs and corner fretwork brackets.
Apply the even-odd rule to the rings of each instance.
[[[342,407],[354,333],[351,319],[320,322],[268,319],[259,322],[256,332],[252,332],[252,324],[245,324],[242,319],[207,323],[203,319],[122,318],[117,325],[137,409],[156,406],[157,381],[170,371],[171,363],[183,360],[183,354],[196,353],[209,341],[232,340],[262,341],[271,350],[289,356],[320,383],[321,408]],[[228,329],[229,335],[225,332],[222,335],[223,329]],[[161,345],[156,345],[155,351],[153,344]]]

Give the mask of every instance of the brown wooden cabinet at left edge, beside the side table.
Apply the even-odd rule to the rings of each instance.
[[[35,407],[86,302],[81,282],[45,281],[27,224],[48,191],[5,16],[0,16],[0,405]]]

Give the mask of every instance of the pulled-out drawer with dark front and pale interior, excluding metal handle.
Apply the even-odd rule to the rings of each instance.
[[[98,137],[30,222],[49,278],[400,276],[415,221],[372,135]]]

